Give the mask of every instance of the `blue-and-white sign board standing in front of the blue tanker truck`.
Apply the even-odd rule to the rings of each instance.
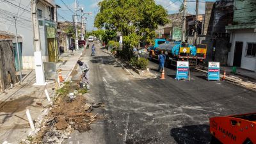
[[[177,71],[175,79],[189,79],[189,62],[188,61],[177,61]]]

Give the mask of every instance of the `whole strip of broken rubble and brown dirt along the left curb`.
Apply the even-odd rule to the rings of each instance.
[[[69,85],[70,86],[70,85]],[[91,129],[98,114],[93,114],[93,108],[104,107],[103,103],[88,104],[83,96],[84,90],[70,92],[67,86],[59,90],[61,94],[51,108],[45,110],[47,115],[38,118],[36,134],[28,137],[22,143],[61,143],[74,130],[86,132]]]

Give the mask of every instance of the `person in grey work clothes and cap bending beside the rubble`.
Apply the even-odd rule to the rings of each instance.
[[[77,61],[77,64],[79,65],[79,67],[81,69],[82,83],[79,82],[79,85],[81,88],[86,86],[86,88],[89,89],[90,88],[90,86],[89,86],[89,66],[87,65],[87,63],[82,62],[80,60]]]

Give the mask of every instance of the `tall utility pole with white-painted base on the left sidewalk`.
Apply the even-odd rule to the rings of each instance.
[[[31,15],[32,15],[32,26],[33,26],[34,58],[35,58],[35,72],[36,72],[35,85],[45,85],[44,63],[42,60],[40,31],[39,31],[36,11],[37,11],[36,0],[31,0]]]

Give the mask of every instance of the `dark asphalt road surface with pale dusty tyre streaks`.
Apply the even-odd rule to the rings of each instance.
[[[92,130],[74,132],[64,143],[210,143],[209,118],[255,112],[256,93],[227,82],[206,81],[205,74],[191,71],[191,81],[136,79],[96,45],[82,57],[90,65],[89,102],[104,102],[95,109],[101,119]],[[156,62],[150,70],[160,76]],[[77,74],[79,75],[79,74]],[[77,76],[78,77],[78,76]]]

